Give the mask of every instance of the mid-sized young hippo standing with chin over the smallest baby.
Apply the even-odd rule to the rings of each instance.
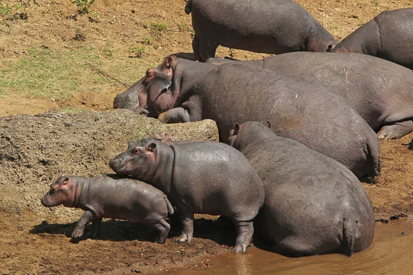
[[[182,224],[178,241],[191,242],[193,214],[229,217],[237,229],[233,252],[244,253],[253,236],[253,219],[264,201],[262,182],[248,159],[219,142],[173,142],[145,137],[131,142],[110,167],[159,188],[176,207]]]

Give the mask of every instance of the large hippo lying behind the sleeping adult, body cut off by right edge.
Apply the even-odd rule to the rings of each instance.
[[[260,61],[209,58],[207,63],[242,64],[302,76],[346,98],[379,138],[399,138],[413,131],[413,72],[381,58],[293,52]]]

